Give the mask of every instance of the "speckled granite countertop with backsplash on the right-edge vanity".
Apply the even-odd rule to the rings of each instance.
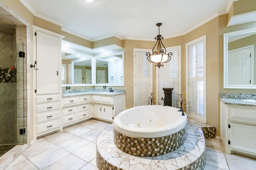
[[[249,103],[249,102],[242,101],[246,99],[255,100],[255,96],[252,96],[252,95],[254,94],[220,93],[220,101],[222,101],[224,104],[256,107],[256,103]]]

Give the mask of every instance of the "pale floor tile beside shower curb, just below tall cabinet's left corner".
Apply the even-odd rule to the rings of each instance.
[[[31,145],[22,154],[24,154],[26,158],[31,158],[32,156],[40,154],[46,150],[52,149],[53,147],[56,147],[56,145],[54,145],[50,141],[44,140],[42,142]]]

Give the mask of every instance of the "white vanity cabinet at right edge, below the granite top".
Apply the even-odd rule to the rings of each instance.
[[[220,132],[227,153],[256,156],[256,106],[220,102]]]

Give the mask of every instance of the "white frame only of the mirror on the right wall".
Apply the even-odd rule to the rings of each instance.
[[[256,89],[256,85],[229,85],[228,84],[228,37],[246,33],[256,33],[256,28],[244,29],[223,35],[223,88]]]

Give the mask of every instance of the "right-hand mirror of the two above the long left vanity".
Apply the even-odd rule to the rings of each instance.
[[[124,84],[123,53],[96,57],[96,84]]]

